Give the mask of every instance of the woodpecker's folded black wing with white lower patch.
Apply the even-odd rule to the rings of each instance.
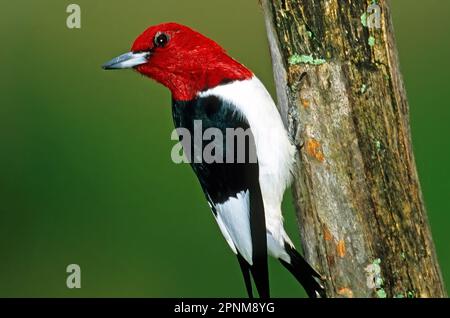
[[[175,126],[190,132],[187,138],[180,135],[184,151],[225,239],[238,254],[249,296],[252,293],[248,271],[253,276],[260,297],[269,297],[264,205],[258,163],[252,161],[256,158],[256,148],[248,122],[234,105],[216,96],[189,102],[173,101],[172,110]],[[214,136],[211,137],[213,141],[203,141],[201,146],[198,145],[199,132],[204,134],[208,129],[220,132],[222,140]],[[243,149],[234,135],[227,134],[227,129],[249,133]],[[232,138],[234,146],[231,147]],[[204,156],[199,162],[199,149],[204,155],[205,149],[211,149],[206,148],[208,144],[211,146],[211,142],[214,143],[214,152],[211,153],[215,155],[215,162],[205,160]],[[229,156],[230,150],[233,156]],[[239,153],[242,150],[245,151],[244,160],[242,153]],[[231,157],[234,163],[230,162]]]

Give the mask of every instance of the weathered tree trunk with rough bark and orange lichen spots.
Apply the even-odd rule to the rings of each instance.
[[[280,111],[304,145],[293,185],[302,245],[328,297],[446,296],[388,3],[261,4]],[[364,14],[373,4],[379,28]]]

